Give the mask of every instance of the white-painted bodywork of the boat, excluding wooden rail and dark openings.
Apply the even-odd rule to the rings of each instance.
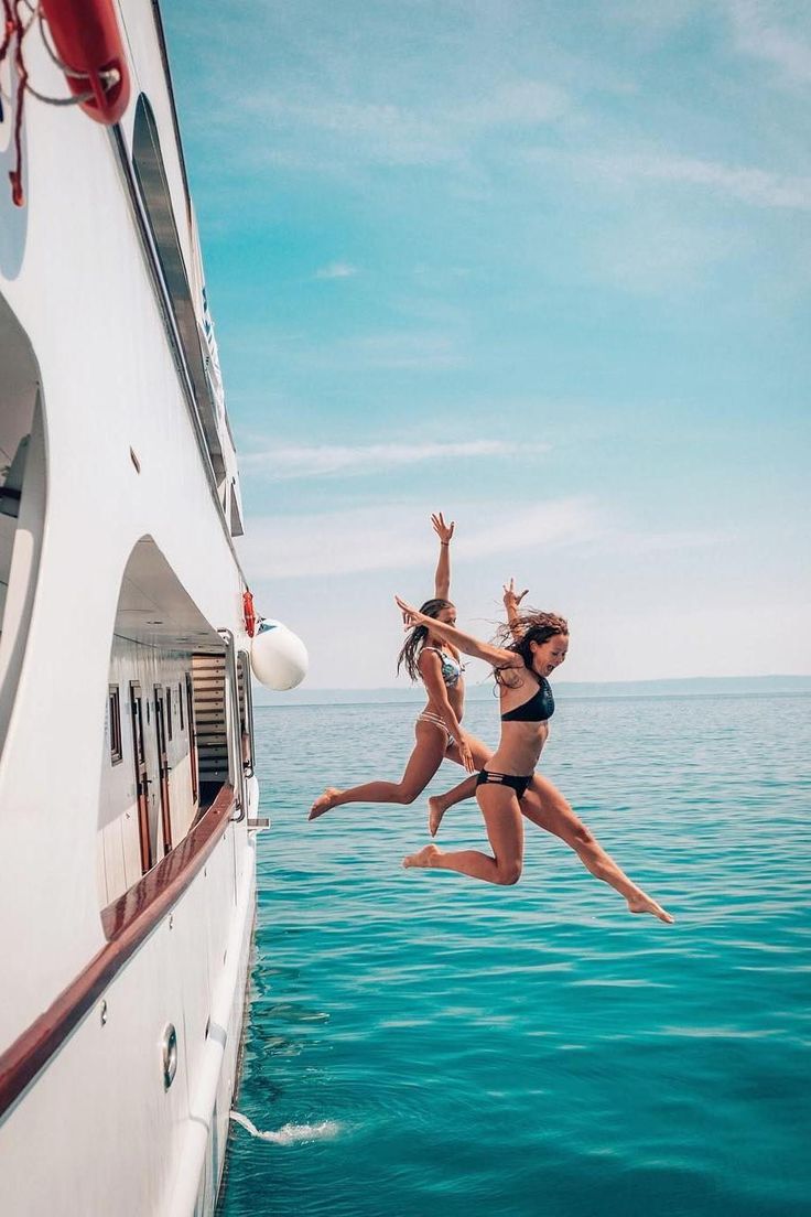
[[[143,89],[158,120],[191,267],[195,242],[152,7],[150,0],[123,0],[120,12],[133,68],[122,128],[131,131]],[[27,57],[38,88],[64,91],[36,32],[27,40]],[[27,207],[18,212],[5,173],[10,148],[0,140],[0,298],[33,352],[46,462],[36,475],[44,520],[15,539],[21,570],[39,559],[35,594],[24,578],[12,577],[0,639],[7,651],[13,636],[22,638],[24,618],[0,756],[0,975],[11,996],[0,1003],[0,1051],[103,947],[100,908],[140,877],[125,695],[130,671],[145,672],[145,695],[158,675],[176,694],[187,662],[180,652],[195,645],[195,635],[202,645],[203,635],[210,641],[225,627],[240,647],[248,646],[242,577],[201,459],[111,135],[77,108],[29,99],[23,145]],[[197,270],[195,276],[198,281]],[[0,360],[0,409],[6,388],[12,392]],[[236,476],[226,425],[220,439],[227,475]],[[35,477],[27,479],[24,493],[34,488]],[[154,572],[159,606],[170,608],[173,624],[156,627],[152,640],[141,633],[137,641],[114,643],[122,581],[142,538],[152,539],[173,573],[170,583]],[[145,612],[141,632],[143,619]],[[173,630],[174,640],[167,636]],[[176,658],[167,655],[170,641]],[[147,658],[150,645],[154,662]],[[107,688],[118,664],[124,761],[111,768]],[[191,785],[187,729],[185,740],[180,733],[170,745],[173,834],[179,835],[193,814],[181,793]],[[229,826],[171,916],[109,985],[106,1023],[94,1008],[0,1121],[4,1215],[168,1212],[169,1198],[180,1195],[179,1172],[193,1182],[199,1166],[198,1135],[190,1137],[192,1103],[195,1116],[209,1123],[203,1157],[214,1157],[219,1177],[253,875],[243,819]],[[205,1037],[214,1000],[216,1023],[227,1030],[224,1051]],[[168,1022],[178,1028],[180,1064],[164,1090],[159,1042]],[[213,1127],[204,1110],[212,1094]],[[191,1194],[191,1183],[182,1187]],[[212,1213],[216,1178],[202,1188],[197,1211]],[[181,1211],[179,1204],[173,1212]]]

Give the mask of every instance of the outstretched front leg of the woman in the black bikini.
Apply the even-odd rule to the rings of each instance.
[[[565,841],[596,879],[601,879],[625,897],[631,913],[651,913],[660,921],[672,922],[670,913],[637,887],[606,853],[597,837],[575,815],[548,778],[535,774],[531,786],[520,801],[520,809],[533,824]]]

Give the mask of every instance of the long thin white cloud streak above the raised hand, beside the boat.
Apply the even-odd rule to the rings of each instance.
[[[327,473],[379,473],[402,465],[426,461],[458,461],[484,456],[525,458],[548,452],[548,444],[518,444],[503,439],[473,439],[461,443],[422,444],[317,444],[280,445],[246,453],[242,466],[247,472],[263,473],[271,481],[322,477]]]

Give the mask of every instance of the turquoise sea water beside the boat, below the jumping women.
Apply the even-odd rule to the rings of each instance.
[[[811,697],[559,701],[542,768],[672,927],[531,825],[496,888],[400,868],[423,798],[308,824],[326,784],[399,775],[417,710],[257,712],[238,1107],[280,1135],[233,1128],[221,1213],[810,1212]],[[483,840],[471,802],[439,843]]]

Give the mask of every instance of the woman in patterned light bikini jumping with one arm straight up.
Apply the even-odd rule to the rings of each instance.
[[[333,807],[344,803],[412,803],[439,769],[443,759],[456,761],[468,773],[475,773],[490,752],[475,736],[462,731],[464,705],[463,666],[456,647],[440,638],[434,627],[456,624],[456,608],[450,595],[450,544],[454,523],[446,525],[441,511],[430,517],[439,537],[439,559],[434,576],[434,599],[422,606],[422,622],[411,632],[400,651],[398,671],[405,666],[412,680],[422,680],[428,705],[415,723],[415,746],[400,781],[367,781],[362,786],[339,790],[327,786],[310,808],[309,819],[316,820]],[[473,793],[473,783],[461,797]]]

